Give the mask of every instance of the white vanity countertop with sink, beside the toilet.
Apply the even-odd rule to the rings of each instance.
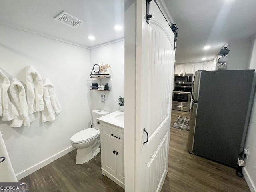
[[[97,119],[99,121],[124,128],[124,112],[121,112],[120,110],[104,115]]]

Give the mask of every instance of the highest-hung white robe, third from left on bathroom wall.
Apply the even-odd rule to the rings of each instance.
[[[26,67],[26,86],[28,113],[44,110],[43,81],[40,74],[31,65]]]

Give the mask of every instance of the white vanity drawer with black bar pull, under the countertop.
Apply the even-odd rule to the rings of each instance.
[[[115,142],[124,144],[124,133],[123,132],[112,129],[105,125],[102,126],[102,130],[100,132],[101,132],[101,136],[105,136],[107,138],[112,139]]]

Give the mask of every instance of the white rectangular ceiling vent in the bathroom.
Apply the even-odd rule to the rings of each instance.
[[[70,27],[77,27],[84,23],[83,20],[64,11],[62,11],[60,14],[54,17],[54,20],[59,21],[63,24],[66,24]]]

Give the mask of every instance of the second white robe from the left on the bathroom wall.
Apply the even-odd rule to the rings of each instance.
[[[25,88],[20,82],[20,80],[18,80],[18,78],[14,77],[11,79],[10,94],[11,101],[13,101],[16,104],[19,112],[19,116],[14,118],[10,126],[21,127],[23,123],[25,127],[30,126]]]

